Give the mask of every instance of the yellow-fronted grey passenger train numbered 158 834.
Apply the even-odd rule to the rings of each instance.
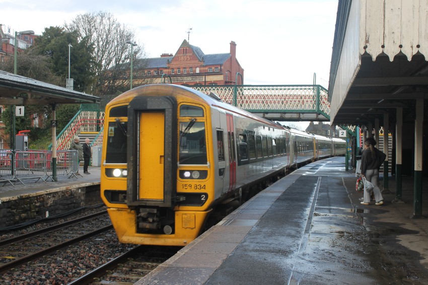
[[[346,152],[211,93],[151,84],[106,105],[101,198],[121,243],[185,246],[286,171]],[[217,215],[218,216],[218,215]]]

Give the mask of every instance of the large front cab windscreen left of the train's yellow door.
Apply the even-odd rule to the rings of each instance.
[[[126,163],[127,125],[128,122],[109,122],[106,163]]]

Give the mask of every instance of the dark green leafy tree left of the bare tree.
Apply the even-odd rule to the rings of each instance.
[[[68,45],[70,49],[70,64],[68,65]],[[36,38],[37,52],[49,56],[52,61],[51,70],[64,81],[68,78],[68,66],[70,78],[74,79],[74,90],[89,92],[95,83],[96,62],[92,56],[93,48],[87,42],[87,38],[78,40],[75,31],[64,31],[61,27],[45,28],[41,37]]]

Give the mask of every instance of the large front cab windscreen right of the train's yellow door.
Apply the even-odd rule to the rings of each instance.
[[[206,165],[205,123],[180,122],[180,164]]]

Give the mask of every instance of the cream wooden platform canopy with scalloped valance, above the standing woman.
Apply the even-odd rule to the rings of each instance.
[[[330,123],[383,125],[397,108],[414,120],[416,100],[428,99],[427,15],[428,0],[339,0]]]

